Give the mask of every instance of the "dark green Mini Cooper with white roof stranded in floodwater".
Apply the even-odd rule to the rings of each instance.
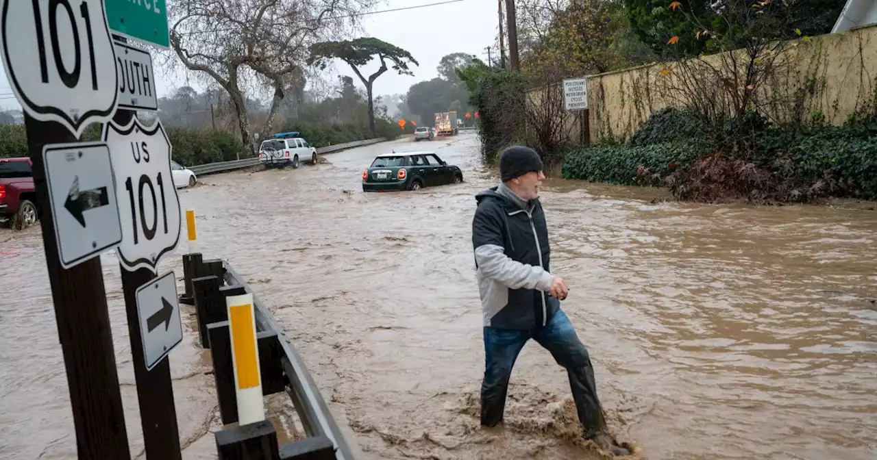
[[[463,181],[460,168],[448,165],[433,152],[380,155],[362,171],[362,191],[417,190]]]

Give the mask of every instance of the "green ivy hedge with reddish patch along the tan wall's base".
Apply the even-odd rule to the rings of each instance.
[[[660,110],[631,142],[567,154],[567,179],[666,185],[677,198],[813,201],[877,199],[877,120],[777,127],[757,113],[724,125],[685,110]]]

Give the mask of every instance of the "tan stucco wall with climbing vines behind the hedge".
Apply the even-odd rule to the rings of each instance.
[[[873,103],[877,79],[877,26],[851,32],[795,40],[782,53],[783,63],[772,81],[757,88],[760,108],[777,121],[795,117],[824,117],[831,124]],[[704,58],[713,67],[724,56]],[[602,138],[630,138],[656,110],[681,106],[685,96],[679,84],[688,75],[672,65],[655,64],[588,76],[589,128],[592,143]],[[708,85],[717,87],[719,85]],[[690,87],[690,85],[688,85]],[[722,97],[714,88],[713,97]],[[688,91],[685,91],[689,93]],[[763,97],[770,94],[771,97]],[[781,96],[781,97],[778,97]]]

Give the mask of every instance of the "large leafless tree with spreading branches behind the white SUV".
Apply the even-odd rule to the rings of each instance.
[[[251,146],[248,84],[267,88],[270,126],[285,88],[303,86],[308,46],[353,32],[375,0],[177,0],[168,11],[177,64],[228,92]],[[260,130],[262,131],[262,130]]]

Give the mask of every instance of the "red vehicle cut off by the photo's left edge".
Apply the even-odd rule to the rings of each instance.
[[[19,229],[39,222],[31,159],[0,158],[0,223]]]

